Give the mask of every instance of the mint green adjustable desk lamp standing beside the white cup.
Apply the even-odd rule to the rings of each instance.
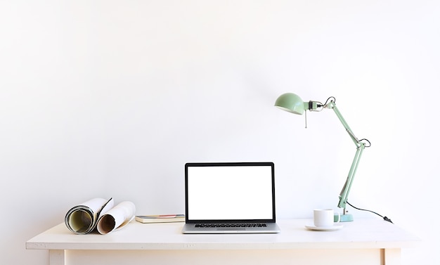
[[[365,147],[370,147],[371,143],[367,139],[358,140],[358,138],[354,136],[353,131],[351,131],[344,117],[342,117],[341,112],[339,112],[339,110],[336,108],[335,101],[336,99],[334,97],[330,97],[327,99],[327,101],[325,101],[324,104],[318,101],[304,102],[302,101],[301,98],[299,98],[299,96],[297,96],[294,93],[284,93],[283,95],[277,98],[275,102],[275,106],[280,108],[281,110],[286,110],[288,112],[292,112],[299,115],[302,115],[304,113],[304,110],[305,113],[306,110],[321,111],[324,108],[329,108],[335,111],[335,114],[341,121],[347,133],[349,134],[351,140],[356,145],[356,154],[354,155],[354,160],[353,163],[351,164],[349,175],[347,176],[347,181],[345,181],[344,187],[342,187],[341,193],[339,193],[339,203],[337,205],[337,207],[343,209],[343,213],[341,214],[340,221],[353,221],[353,216],[351,214],[348,214],[346,210],[347,200],[349,197],[351,184],[353,183],[354,174],[356,174],[356,169],[358,168],[359,160],[361,160],[361,155],[363,153],[363,150],[365,149]],[[306,116],[306,128],[307,128],[307,114],[305,116]],[[335,221],[337,221],[337,216],[335,216]]]

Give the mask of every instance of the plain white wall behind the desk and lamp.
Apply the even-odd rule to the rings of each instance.
[[[25,241],[94,197],[181,213],[183,164],[276,163],[279,218],[335,207],[354,145],[351,203],[422,238],[439,264],[439,1],[0,2],[0,264],[46,264]],[[352,210],[357,218],[372,214]]]

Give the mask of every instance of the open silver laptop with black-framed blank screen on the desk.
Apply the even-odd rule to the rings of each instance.
[[[273,162],[185,164],[182,233],[278,233]]]

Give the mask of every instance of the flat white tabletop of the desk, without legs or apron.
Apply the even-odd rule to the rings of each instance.
[[[291,250],[413,247],[419,238],[382,219],[341,223],[338,231],[309,231],[312,219],[277,221],[276,234],[183,235],[183,223],[131,221],[107,235],[76,235],[59,224],[26,243],[28,250]]]

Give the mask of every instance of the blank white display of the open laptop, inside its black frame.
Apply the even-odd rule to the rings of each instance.
[[[272,219],[270,166],[188,167],[188,219]]]

